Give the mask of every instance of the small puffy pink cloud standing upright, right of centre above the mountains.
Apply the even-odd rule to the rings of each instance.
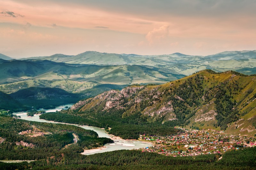
[[[166,38],[168,34],[169,26],[161,26],[160,28],[154,28],[152,31],[149,31],[146,35],[146,39],[149,41],[149,44],[154,44]]]

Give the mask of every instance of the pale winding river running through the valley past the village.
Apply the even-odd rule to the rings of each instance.
[[[56,111],[60,111],[62,109],[68,109],[68,108],[65,108],[65,106],[71,107],[72,105],[73,104],[66,104],[66,105],[56,107],[55,109],[40,109],[40,110],[45,110],[46,112],[56,112]],[[36,122],[47,122],[47,123],[61,123],[61,122],[53,122],[53,121],[47,121],[44,119],[39,119],[39,115],[34,115],[32,117],[27,116],[26,112],[19,112],[19,113],[13,113],[13,114],[20,116],[21,117],[20,119],[23,119],[23,120],[36,121]],[[63,123],[63,124],[78,126],[77,124],[70,124],[70,123]],[[107,138],[112,138],[114,140],[113,144],[105,144],[104,147],[102,147],[102,148],[85,150],[82,153],[84,155],[91,155],[91,154],[95,154],[95,153],[116,151],[116,150],[122,150],[122,149],[132,150],[132,149],[139,149],[139,148],[145,148],[145,147],[152,146],[152,144],[150,144],[150,143],[145,143],[145,142],[139,141],[139,140],[123,140],[123,139],[120,139],[119,137],[114,137],[113,135],[109,135],[107,132],[105,132],[104,129],[101,129],[98,127],[94,127],[94,126],[79,126],[79,127],[84,128],[84,129],[93,130],[98,133],[99,137],[107,137]]]

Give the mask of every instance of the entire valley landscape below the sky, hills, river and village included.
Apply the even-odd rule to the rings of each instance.
[[[254,164],[245,165],[244,158],[250,155],[250,161],[255,156],[256,78],[254,58],[248,58],[254,52],[207,57],[175,53],[163,55],[166,62],[159,56],[123,54],[115,55],[121,57],[119,63],[106,65],[105,60],[82,59],[113,54],[88,52],[80,55],[80,63],[61,63],[77,57],[66,55],[55,55],[54,61],[1,60],[1,159],[33,161],[0,167],[175,169],[177,161],[179,168],[202,161],[200,168],[250,169]],[[168,63],[168,57],[175,60]],[[239,62],[246,65],[242,70]],[[11,136],[6,129],[11,129]],[[231,161],[241,154],[242,162]],[[135,158],[143,163],[130,162]]]

